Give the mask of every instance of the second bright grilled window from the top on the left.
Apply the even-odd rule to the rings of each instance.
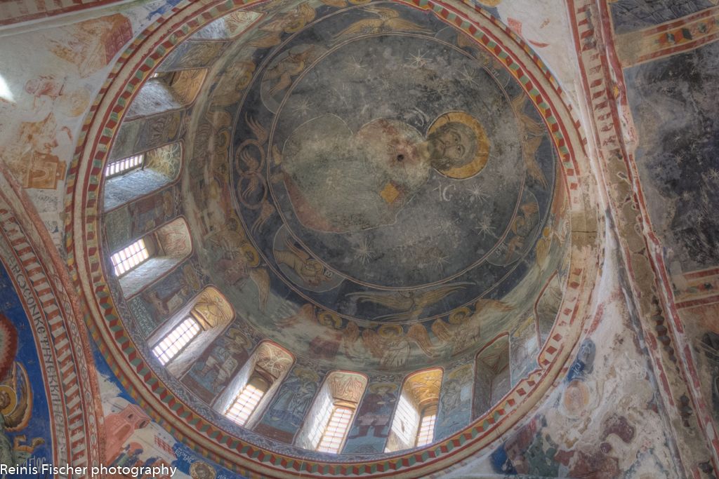
[[[191,252],[187,223],[184,218],[176,218],[115,251],[110,260],[124,296],[130,297],[180,264]]]

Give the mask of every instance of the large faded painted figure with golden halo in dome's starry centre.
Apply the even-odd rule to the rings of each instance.
[[[488,154],[482,125],[460,111],[436,118],[426,138],[387,118],[353,134],[341,118],[327,114],[293,131],[280,161],[298,220],[317,231],[347,233],[394,223],[431,169],[454,179],[472,177]]]

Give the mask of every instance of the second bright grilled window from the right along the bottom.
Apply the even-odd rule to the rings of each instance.
[[[359,373],[329,373],[317,394],[296,443],[306,449],[339,454],[359,399],[365,393],[367,377]]]

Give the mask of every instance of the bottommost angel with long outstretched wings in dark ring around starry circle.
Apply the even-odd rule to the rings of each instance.
[[[426,308],[440,302],[464,289],[464,286],[471,283],[445,284],[434,289],[424,291],[401,291],[401,292],[357,292],[349,293],[347,296],[356,299],[358,302],[372,302],[399,311],[390,315],[378,316],[375,320],[403,321],[417,320]]]

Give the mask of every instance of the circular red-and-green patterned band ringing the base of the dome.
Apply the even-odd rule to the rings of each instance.
[[[135,371],[142,367],[142,360],[137,365],[136,356],[128,358],[125,353],[125,351],[134,351],[132,348],[134,339],[122,322],[118,325],[119,314],[115,304],[116,299],[101,303],[96,297],[96,292],[106,287],[107,279],[105,271],[99,271],[101,269],[93,267],[101,261],[96,254],[96,251],[100,251],[100,248],[97,247],[98,238],[83,234],[84,231],[98,231],[96,209],[99,203],[96,192],[88,188],[88,185],[91,185],[91,182],[96,179],[96,171],[99,169],[96,165],[106,161],[106,153],[103,149],[116,136],[117,126],[109,124],[103,119],[106,118],[105,113],[114,108],[113,111],[122,116],[127,111],[128,99],[132,98],[137,91],[137,85],[142,82],[143,78],[147,78],[154,65],[157,65],[157,62],[162,60],[178,42],[186,39],[195,29],[201,27],[203,22],[209,22],[211,19],[225,14],[227,9],[240,6],[239,2],[230,3],[232,5],[223,3],[221,10],[216,8],[219,2],[214,1],[202,5],[190,4],[183,9],[178,9],[172,22],[150,29],[147,35],[142,37],[142,41],[138,41],[136,45],[132,46],[127,55],[121,58],[109,80],[109,88],[103,90],[101,97],[93,106],[91,115],[88,116],[90,119],[86,124],[86,129],[83,129],[78,155],[75,157],[68,175],[66,247],[73,274],[79,278],[78,288],[81,289],[91,310],[91,327],[93,332],[96,332],[99,343],[113,352],[109,361],[118,367],[123,380],[132,385],[132,394],[145,401],[147,409],[162,418],[163,424],[183,422],[183,417],[180,417],[175,409],[170,410],[165,407],[168,400],[176,401],[180,404],[179,410],[189,410],[190,414],[196,414],[196,408],[189,401],[183,399],[182,394],[176,394],[171,387],[164,387],[170,385],[165,384],[162,379],[159,381],[162,387],[157,388],[157,391],[162,391],[163,394],[160,398],[155,389],[150,390],[145,387],[144,382],[147,379],[140,381],[134,376],[134,373],[129,373],[131,370]],[[393,470],[396,468],[408,475],[425,475],[439,468],[443,461],[449,460],[449,455],[452,455],[453,460],[459,460],[477,452],[497,437],[497,434],[508,430],[522,417],[522,414],[514,414],[518,409],[526,410],[544,394],[551,379],[557,376],[567,361],[569,350],[571,350],[569,346],[576,343],[582,323],[588,315],[588,299],[591,296],[597,272],[596,260],[601,256],[601,250],[598,247],[600,241],[595,241],[595,232],[601,231],[600,224],[597,228],[597,222],[600,222],[601,218],[595,214],[598,210],[595,208],[595,185],[589,175],[589,164],[582,148],[583,137],[580,124],[578,122],[574,124],[575,117],[568,108],[564,94],[554,83],[548,70],[536,57],[533,57],[526,45],[518,42],[516,37],[512,37],[506,27],[496,22],[490,22],[487,18],[472,11],[470,6],[452,2],[452,7],[448,8],[442,3],[434,3],[429,7],[429,11],[431,14],[442,17],[447,23],[455,24],[471,34],[475,37],[477,45],[487,45],[488,42],[492,42],[494,45],[493,55],[499,55],[503,65],[507,65],[512,72],[515,72],[515,75],[523,75],[523,88],[527,92],[533,92],[531,93],[533,102],[539,105],[538,108],[546,120],[545,123],[551,124],[553,127],[555,147],[559,149],[564,167],[562,181],[567,183],[567,194],[572,197],[572,201],[569,203],[573,222],[572,245],[577,246],[572,249],[572,261],[568,268],[567,284],[569,292],[572,294],[567,294],[562,300],[562,308],[557,322],[561,327],[554,330],[539,354],[541,371],[533,373],[531,377],[521,380],[516,385],[516,390],[521,390],[522,394],[514,392],[511,394],[511,399],[513,399],[511,407],[495,409],[487,413],[493,415],[493,422],[487,423],[480,420],[475,424],[468,425],[464,430],[457,432],[454,437],[447,438],[441,445],[434,446],[429,454],[427,454],[428,451],[407,452],[401,457],[402,465],[398,465],[400,461],[395,458],[388,459],[382,455],[367,457],[367,460],[362,463],[365,469],[362,469],[354,465],[331,462],[325,457],[317,461],[303,462],[303,465],[299,467],[306,468],[307,471],[312,470],[311,468],[334,468],[336,474],[349,477],[358,475],[357,471],[359,470],[386,471],[389,468],[393,468]],[[200,10],[211,12],[211,14],[198,23],[193,14]],[[195,23],[190,28],[183,30],[187,22]],[[170,23],[172,28],[170,28]],[[147,41],[145,41],[146,38]],[[166,43],[162,45],[162,49],[155,49],[155,45],[160,45],[163,41]],[[122,85],[124,84],[127,84],[127,90],[123,90]],[[121,95],[122,101],[118,101]],[[92,158],[93,162],[86,162],[85,159],[88,158]],[[576,226],[574,226],[575,223]],[[122,347],[117,344],[119,337],[122,337]],[[127,348],[124,347],[126,344]],[[129,361],[134,361],[132,368],[126,367],[126,363]],[[157,376],[152,376],[153,381],[156,379]],[[280,446],[273,450],[273,446],[269,445],[269,442],[257,442],[254,437],[238,437],[224,431],[218,432],[209,423],[211,420],[200,417],[197,425],[193,424],[193,428],[186,429],[187,444],[195,447],[198,452],[204,455],[217,455],[226,461],[227,465],[239,471],[249,470],[260,475],[296,473],[297,462],[292,460],[293,454],[297,453],[295,449]],[[459,440],[460,437],[464,437],[464,439]],[[256,460],[258,449],[267,457],[266,461]],[[293,465],[291,467],[294,469],[287,464]],[[370,473],[370,475],[379,475],[379,473]]]

